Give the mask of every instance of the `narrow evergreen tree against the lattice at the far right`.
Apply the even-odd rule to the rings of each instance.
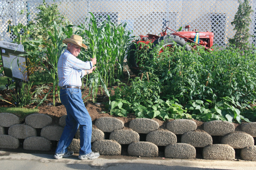
[[[248,0],[242,2],[239,0],[238,11],[234,17],[234,20],[231,22],[231,25],[234,26],[236,34],[233,38],[229,39],[229,43],[233,44],[240,50],[248,49],[248,38],[252,35],[249,34],[249,26],[251,23],[250,15],[253,12],[252,7],[249,4]]]

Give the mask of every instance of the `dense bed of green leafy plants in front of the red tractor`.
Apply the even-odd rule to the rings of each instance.
[[[252,51],[229,47],[192,52],[179,46],[158,53],[157,47],[138,53],[140,68],[148,73],[130,86],[115,89],[111,114],[161,119],[250,121],[250,103],[256,100]],[[254,50],[254,49],[251,49]],[[255,114],[255,113],[254,113]],[[252,118],[252,116],[251,116]]]

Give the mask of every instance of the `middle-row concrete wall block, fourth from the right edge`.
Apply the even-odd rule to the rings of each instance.
[[[109,139],[115,140],[119,144],[130,144],[140,141],[140,135],[131,129],[119,129],[111,132]]]

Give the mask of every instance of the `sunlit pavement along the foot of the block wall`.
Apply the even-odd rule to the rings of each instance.
[[[104,156],[94,160],[0,150],[0,170],[256,170],[256,161]]]

